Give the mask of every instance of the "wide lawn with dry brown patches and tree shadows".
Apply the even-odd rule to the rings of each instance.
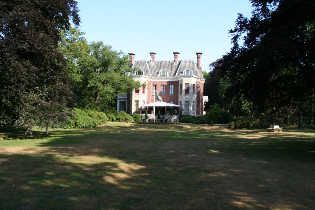
[[[315,131],[0,128],[0,209],[314,209]]]

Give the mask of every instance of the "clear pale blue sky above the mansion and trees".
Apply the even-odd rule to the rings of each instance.
[[[238,13],[251,16],[248,0],[78,0],[80,30],[89,42],[104,41],[114,50],[134,53],[136,60],[195,60],[201,67],[228,52]]]

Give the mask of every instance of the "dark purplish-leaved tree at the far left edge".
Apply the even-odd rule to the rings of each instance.
[[[0,124],[49,127],[72,103],[60,29],[79,25],[74,0],[0,1]]]

